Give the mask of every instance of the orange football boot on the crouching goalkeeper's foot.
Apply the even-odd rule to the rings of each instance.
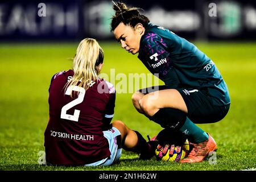
[[[201,143],[189,143],[193,146],[192,151],[188,154],[187,158],[180,161],[180,163],[199,163],[204,160],[204,158],[209,154],[210,151],[217,150],[217,144],[207,133],[208,140]]]

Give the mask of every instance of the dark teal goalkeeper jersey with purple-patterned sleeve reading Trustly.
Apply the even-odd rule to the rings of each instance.
[[[208,89],[214,105],[230,104],[228,87],[214,62],[170,30],[148,23],[138,58],[167,88]]]

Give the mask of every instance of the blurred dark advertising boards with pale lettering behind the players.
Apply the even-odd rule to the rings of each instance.
[[[192,40],[256,38],[255,1],[123,1],[151,22]],[[0,40],[111,40],[112,1],[0,2]]]

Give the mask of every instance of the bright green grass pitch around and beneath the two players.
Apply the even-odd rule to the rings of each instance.
[[[100,42],[105,51],[102,73],[149,73],[117,43]],[[0,44],[0,170],[242,170],[256,168],[256,43],[195,43],[217,65],[228,84],[232,104],[222,121],[199,125],[218,144],[217,163],[141,161],[122,152],[109,167],[47,167],[38,164],[48,122],[48,86],[52,75],[72,67],[77,43]],[[118,81],[116,81],[117,84]],[[160,82],[161,84],[162,82]],[[137,113],[131,93],[118,93],[114,119],[143,137],[161,128]]]

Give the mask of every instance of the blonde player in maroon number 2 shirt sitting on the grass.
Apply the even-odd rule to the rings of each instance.
[[[56,73],[49,86],[49,122],[44,133],[48,165],[109,166],[121,147],[142,153],[148,144],[114,115],[115,89],[98,77],[104,53],[86,38],[77,48],[73,69]]]

